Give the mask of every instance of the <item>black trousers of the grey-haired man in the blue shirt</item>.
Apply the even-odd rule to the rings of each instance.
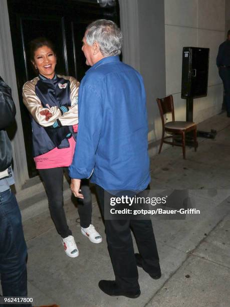
[[[108,192],[98,185],[96,191],[104,215],[104,206],[110,206],[104,202],[104,193]],[[135,291],[140,287],[130,228],[143,258],[143,267],[148,273],[159,271],[159,256],[150,220],[105,220],[106,239],[116,282],[127,291]]]

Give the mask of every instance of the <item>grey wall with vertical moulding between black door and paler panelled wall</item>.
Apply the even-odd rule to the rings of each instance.
[[[148,140],[161,133],[156,97],[165,96],[164,1],[119,0],[123,32],[123,62],[144,79],[148,110]]]

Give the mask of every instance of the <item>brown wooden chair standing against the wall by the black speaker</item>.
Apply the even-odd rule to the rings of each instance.
[[[161,152],[161,148],[163,143],[175,145],[175,146],[182,146],[183,149],[183,158],[185,159],[185,133],[193,131],[193,141],[194,141],[194,149],[196,151],[197,142],[196,142],[196,124],[192,121],[177,121],[175,120],[174,115],[174,106],[173,106],[173,97],[169,95],[164,98],[157,98],[156,99],[159,110],[160,110],[160,117],[162,121],[162,137],[160,142],[160,148],[158,154]],[[172,121],[164,122],[164,114],[171,113],[172,114]],[[172,133],[172,135],[164,136],[165,132]],[[182,143],[176,143],[174,138],[178,134],[182,137]],[[166,141],[166,138],[172,137],[172,142]]]

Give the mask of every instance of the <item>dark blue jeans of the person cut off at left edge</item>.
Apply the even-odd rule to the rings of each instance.
[[[26,260],[21,213],[15,195],[7,190],[0,193],[0,275],[4,296],[27,296]]]

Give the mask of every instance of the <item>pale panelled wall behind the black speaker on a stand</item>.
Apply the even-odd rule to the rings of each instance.
[[[182,48],[210,48],[207,97],[194,99],[193,120],[198,123],[221,110],[223,89],[215,60],[225,37],[225,0],[165,0],[164,8],[166,94],[173,94],[176,120],[185,120],[186,113],[180,98]]]

